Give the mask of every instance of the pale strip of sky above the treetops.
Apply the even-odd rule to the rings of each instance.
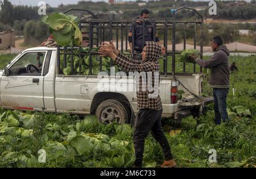
[[[0,0],[1,1],[1,0]],[[76,4],[79,1],[82,0],[9,0],[13,5],[28,5],[28,6],[37,6],[38,2],[40,1],[44,1],[46,3],[48,3],[50,6],[52,7],[57,7],[58,5],[60,5],[60,3],[63,3],[64,5],[67,4]],[[88,0],[84,0],[84,1],[88,1]],[[97,2],[97,1],[105,1],[108,2],[108,0],[92,0],[93,2]],[[123,0],[123,1],[128,1],[128,0]],[[129,0],[129,1],[136,1],[136,0]],[[147,0],[144,0],[147,1]],[[196,0],[194,0],[196,1]],[[210,0],[200,0],[200,1],[210,1]],[[250,0],[247,0],[250,2]]]

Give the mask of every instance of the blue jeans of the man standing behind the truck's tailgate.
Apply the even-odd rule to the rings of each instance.
[[[226,97],[228,96],[229,89],[213,89],[214,98],[214,114],[216,124],[221,124],[221,118],[223,122],[229,121],[229,116],[226,111]]]

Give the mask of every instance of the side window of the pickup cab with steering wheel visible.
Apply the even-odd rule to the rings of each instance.
[[[41,76],[46,52],[31,52],[23,55],[10,68],[10,76]]]

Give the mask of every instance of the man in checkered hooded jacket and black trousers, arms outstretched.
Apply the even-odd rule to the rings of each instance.
[[[162,130],[162,102],[159,96],[159,63],[161,47],[154,41],[146,41],[142,55],[142,61],[132,60],[114,47],[113,43],[104,43],[98,50],[101,56],[111,57],[115,63],[126,72],[138,72],[137,103],[139,112],[135,119],[134,148],[136,160],[135,167],[142,167],[144,141],[151,131],[152,136],[159,142],[166,159],[162,167],[174,167],[176,165],[172,156],[170,145]],[[137,73],[137,74],[138,74]],[[145,79],[146,80],[143,80]],[[137,88],[138,89],[138,88]]]

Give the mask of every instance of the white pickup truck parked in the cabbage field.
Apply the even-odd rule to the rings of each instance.
[[[201,94],[202,74],[176,77],[190,91]],[[99,80],[97,76],[58,74],[57,48],[29,48],[0,71],[0,106],[4,109],[96,114],[100,122],[115,120],[132,124],[138,112],[136,92],[99,91]],[[200,103],[190,94],[187,94],[187,101],[171,102],[171,83],[174,95],[177,95],[176,86],[182,89],[177,82],[171,81],[171,76],[160,77],[163,118],[174,117],[180,122],[193,110],[198,111]],[[212,97],[204,100],[208,104],[212,102]]]

